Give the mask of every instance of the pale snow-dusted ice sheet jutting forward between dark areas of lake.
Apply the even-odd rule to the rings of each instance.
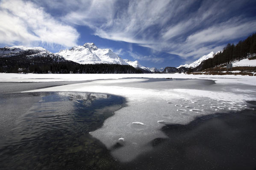
[[[19,76],[19,74],[11,75]],[[56,76],[65,79],[62,75]],[[66,74],[65,76],[68,77],[69,75]],[[72,76],[74,76],[73,79],[78,78],[75,74]],[[255,86],[248,85],[253,84],[255,78],[247,76],[230,77],[229,75],[227,76],[230,77],[229,79],[220,76],[203,77],[202,75],[200,75],[201,79],[117,79],[122,76],[198,78],[185,74],[85,74],[80,76],[79,80],[97,80],[35,91],[87,91],[124,96],[126,99],[125,107],[115,111],[115,115],[106,119],[101,128],[90,132],[109,150],[117,141],[120,141],[119,139],[124,138],[125,144],[111,152],[120,161],[131,161],[139,154],[152,149],[149,143],[153,139],[167,138],[165,133],[160,130],[165,124],[187,124],[197,116],[209,115],[216,113],[216,111],[242,110],[247,108],[245,100],[256,100]],[[100,79],[103,76],[112,79]],[[3,80],[6,79],[8,78],[3,77]],[[217,81],[215,83],[215,81],[207,79]]]

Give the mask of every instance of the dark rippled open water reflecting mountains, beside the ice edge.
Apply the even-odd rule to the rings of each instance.
[[[47,92],[6,94],[3,119],[15,119],[0,138],[2,169],[77,169],[112,166],[108,150],[88,132],[99,128],[123,99],[107,94]],[[34,97],[29,108],[24,105]],[[20,99],[10,104],[10,100]],[[21,108],[15,118],[12,107]],[[4,116],[3,116],[4,115]],[[6,116],[7,115],[7,116]],[[4,122],[4,121],[3,121]],[[7,122],[6,122],[7,123]],[[1,131],[2,131],[1,130]]]

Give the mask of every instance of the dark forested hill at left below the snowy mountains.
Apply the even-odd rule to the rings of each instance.
[[[4,51],[5,49],[0,49]],[[36,51],[15,51],[0,54],[0,72],[5,73],[142,73],[130,65],[78,64],[62,56]]]

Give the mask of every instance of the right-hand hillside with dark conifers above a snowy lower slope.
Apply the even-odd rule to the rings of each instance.
[[[204,60],[195,68],[189,68],[188,73],[256,75],[255,56],[256,33],[239,41],[236,45],[227,44],[223,51],[215,54],[214,57]],[[228,63],[232,63],[233,72],[227,72],[226,65]]]

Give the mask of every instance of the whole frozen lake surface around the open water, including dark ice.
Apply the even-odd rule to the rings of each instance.
[[[71,80],[72,84],[68,80]],[[206,154],[206,151],[209,152],[208,155],[216,155],[217,153],[206,149],[188,150],[187,147],[194,144],[197,147],[202,145],[202,148],[205,148],[208,146],[206,141],[215,137],[220,142],[212,146],[227,145],[228,141],[221,139],[219,131],[225,131],[225,128],[228,129],[230,126],[223,124],[230,121],[233,121],[233,128],[238,129],[238,132],[235,133],[231,128],[231,131],[227,130],[227,132],[222,133],[230,134],[232,132],[235,135],[230,134],[230,139],[235,139],[236,136],[241,136],[244,131],[247,131],[246,134],[251,135],[250,138],[243,139],[245,141],[238,139],[237,145],[239,146],[241,141],[247,142],[251,147],[250,149],[244,148],[244,152],[250,153],[256,150],[256,145],[251,142],[256,137],[251,134],[251,130],[248,130],[256,130],[255,125],[251,124],[255,121],[256,114],[255,108],[253,108],[255,103],[248,103],[248,101],[256,100],[255,77],[194,76],[186,74],[0,74],[0,81],[2,81],[0,82],[1,93],[10,93],[11,90],[7,87],[16,83],[16,91],[29,93],[54,93],[58,91],[58,93],[73,92],[75,94],[86,92],[123,98],[124,106],[115,111],[113,116],[107,118],[102,127],[89,132],[94,139],[99,140],[109,150],[113,159],[120,162],[122,168],[130,167],[132,169],[133,164],[137,164],[137,167],[143,169],[148,164],[146,160],[150,156],[153,162],[158,162],[154,162],[153,169],[158,169],[157,166],[161,167],[161,164],[163,165],[163,162],[167,160],[161,159],[165,160],[163,162],[158,160],[159,158],[156,158],[157,154],[163,158],[170,156],[172,160],[179,158],[176,163],[175,161],[170,161],[169,164],[165,162],[166,168],[162,167],[160,169],[170,169],[167,167],[174,167],[174,164],[179,164],[176,167],[182,168],[180,166],[182,156],[186,161],[183,163],[185,168],[189,164],[188,153],[186,153],[188,151],[191,152],[190,154],[195,152],[197,159],[192,160],[200,163],[202,161],[201,156]],[[28,88],[24,82],[34,82],[35,84]],[[18,90],[17,83],[20,84],[20,90]],[[5,89],[7,90],[5,91]],[[1,97],[3,97],[3,94]],[[223,114],[226,116],[223,116]],[[239,119],[249,122],[248,127],[246,126],[247,123],[240,122],[239,124]],[[2,119],[3,124],[5,124],[4,121]],[[212,128],[209,129],[207,125],[211,125]],[[214,125],[220,126],[213,128]],[[201,127],[205,131],[197,129]],[[211,130],[215,134],[211,133]],[[206,134],[210,137],[202,137]],[[211,137],[211,135],[213,136]],[[198,140],[192,140],[195,139],[195,136],[198,137]],[[214,141],[216,142],[216,140]],[[184,142],[184,148],[182,148],[182,144],[177,144],[177,142]],[[168,151],[174,153],[174,155],[168,153]],[[197,151],[202,154],[199,156]],[[221,150],[220,153],[228,152],[227,150]],[[236,156],[235,159],[237,160],[234,162],[239,162],[239,159],[240,162],[248,162],[250,167],[253,167],[252,162],[255,159],[255,154],[250,153],[249,155],[251,157],[247,160]],[[218,164],[218,161],[220,161],[219,159],[213,159],[212,156],[207,157],[207,159],[211,161],[209,167],[214,166],[214,162]],[[144,165],[139,164],[139,160],[144,162]],[[160,162],[162,163],[160,164]],[[231,165],[230,162],[229,164]],[[207,167],[206,165],[205,167]]]

